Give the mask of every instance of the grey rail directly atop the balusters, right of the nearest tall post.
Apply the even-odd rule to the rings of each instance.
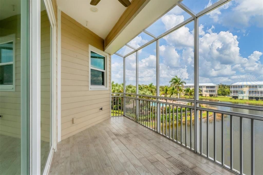
[[[244,114],[244,113],[238,113],[238,112],[209,109],[209,108],[204,108],[204,107],[196,107],[196,109],[202,110],[202,111],[209,111],[209,112],[215,112],[215,113],[219,113],[219,114],[226,114],[226,115],[232,115],[232,116],[237,116],[237,117],[245,117],[245,118],[249,118],[249,119],[255,119],[255,120],[262,120],[263,121],[263,117],[258,116],[258,115],[251,115],[251,114]]]

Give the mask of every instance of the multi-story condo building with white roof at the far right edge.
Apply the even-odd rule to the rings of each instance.
[[[233,99],[263,100],[263,81],[237,82],[230,85]]]

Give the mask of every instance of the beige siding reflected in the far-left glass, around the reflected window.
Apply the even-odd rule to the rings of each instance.
[[[0,90],[0,134],[21,137],[21,44],[20,15],[0,21],[0,37],[15,34],[15,91]]]

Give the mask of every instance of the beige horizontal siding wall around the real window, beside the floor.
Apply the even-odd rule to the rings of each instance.
[[[104,49],[102,38],[61,12],[62,140],[110,117],[110,90],[89,90],[89,44]]]

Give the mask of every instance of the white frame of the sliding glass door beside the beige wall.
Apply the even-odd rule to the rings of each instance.
[[[41,172],[41,1],[29,0],[29,173]],[[43,0],[52,27],[51,148],[43,174],[48,174],[57,148],[57,21],[51,0]]]

